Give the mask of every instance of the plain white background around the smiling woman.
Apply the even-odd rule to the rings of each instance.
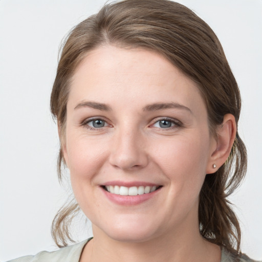
[[[243,98],[239,132],[248,173],[231,200],[243,252],[262,259],[262,1],[184,0],[215,31]],[[52,219],[67,199],[56,176],[58,137],[49,112],[61,39],[104,1],[0,0],[0,260],[54,250]],[[75,231],[81,228],[76,223]],[[87,232],[92,234],[90,227]],[[78,241],[86,233],[76,232]]]

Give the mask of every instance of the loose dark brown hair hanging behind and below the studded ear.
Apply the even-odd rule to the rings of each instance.
[[[202,236],[214,244],[224,246],[236,256],[240,253],[241,228],[228,197],[245,177],[246,156],[246,147],[237,135],[228,160],[215,173],[206,175],[200,192],[199,222]],[[233,172],[230,171],[232,168]]]

